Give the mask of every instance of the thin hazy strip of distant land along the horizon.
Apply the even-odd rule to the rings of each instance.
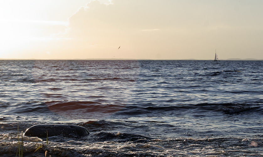
[[[196,61],[212,61],[212,59],[129,59],[129,58],[86,58],[86,59],[19,59],[19,58],[0,58],[0,60],[196,60]],[[220,59],[219,61],[263,61],[263,59],[254,59],[254,58],[229,58],[229,59]]]

